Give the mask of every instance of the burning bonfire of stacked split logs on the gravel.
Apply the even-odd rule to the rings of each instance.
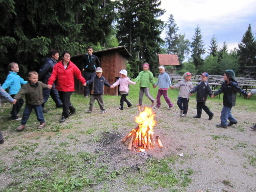
[[[135,122],[138,123],[138,126],[122,139],[124,145],[128,145],[128,150],[131,150],[132,146],[140,149],[151,149],[156,145],[153,137],[153,127],[156,124],[154,116],[156,114],[152,111],[152,108],[145,107],[135,117]],[[163,146],[158,136],[157,141],[159,147],[162,148]]]

